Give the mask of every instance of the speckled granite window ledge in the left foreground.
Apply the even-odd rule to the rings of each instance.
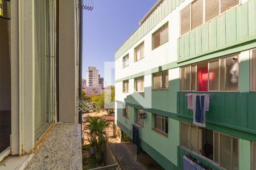
[[[27,169],[82,169],[81,125],[57,124]]]

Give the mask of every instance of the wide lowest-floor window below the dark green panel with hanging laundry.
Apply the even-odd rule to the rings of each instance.
[[[239,168],[238,138],[181,122],[180,145],[222,168]]]

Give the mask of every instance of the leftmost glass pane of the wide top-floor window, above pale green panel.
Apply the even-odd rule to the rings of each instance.
[[[183,11],[180,12],[180,19],[181,19],[181,24],[180,24],[180,31],[181,34],[183,35],[184,33],[187,33],[190,31],[190,8],[191,6],[189,5],[188,7],[184,8]]]

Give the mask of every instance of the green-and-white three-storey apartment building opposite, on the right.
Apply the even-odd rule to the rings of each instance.
[[[115,124],[164,169],[256,169],[256,1],[159,0],[115,53]],[[187,94],[208,94],[205,127]],[[137,133],[134,135],[134,133]]]

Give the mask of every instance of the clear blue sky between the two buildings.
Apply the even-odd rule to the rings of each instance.
[[[104,62],[114,61],[114,53],[138,28],[139,20],[156,1],[94,0],[93,10],[84,10],[83,78],[88,66],[96,66],[104,75]]]

